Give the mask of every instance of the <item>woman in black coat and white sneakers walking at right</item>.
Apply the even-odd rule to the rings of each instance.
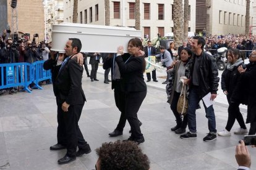
[[[240,127],[236,131],[234,131],[234,134],[247,134],[248,132],[244,123],[244,118],[242,117],[242,113],[239,109],[241,101],[236,100],[239,99],[239,97],[237,97],[237,93],[234,92],[237,89],[237,86],[239,86],[238,82],[240,74],[237,70],[239,66],[245,68],[239,50],[230,49],[228,51],[228,64],[221,75],[221,89],[223,90],[224,94],[227,95],[229,103],[228,122],[226,124],[226,128],[223,131],[218,132],[219,136],[230,136],[230,130],[233,127],[236,119]]]

